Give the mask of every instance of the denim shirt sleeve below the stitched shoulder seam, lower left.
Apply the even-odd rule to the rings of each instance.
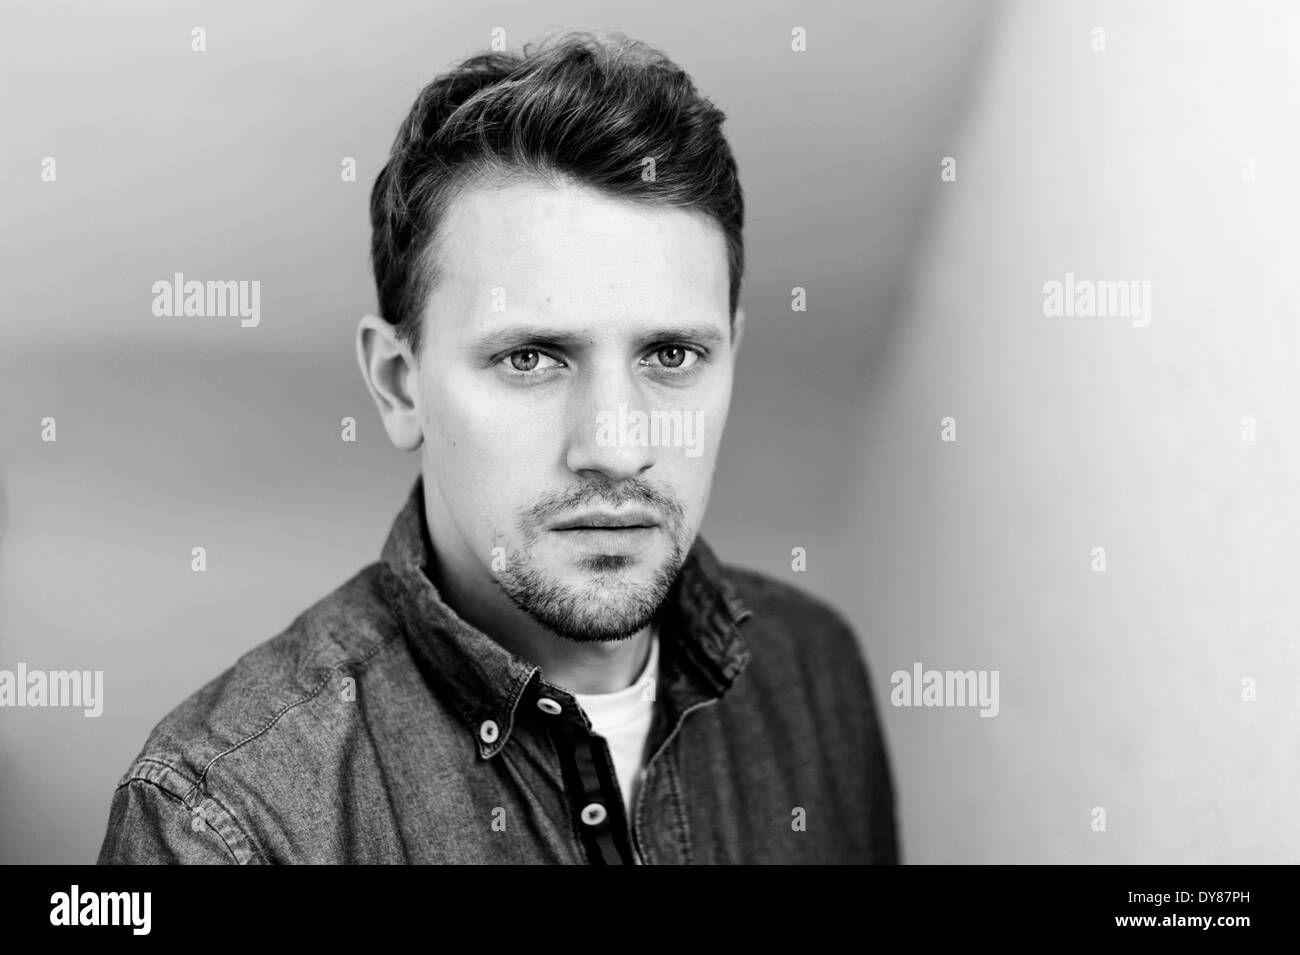
[[[260,861],[218,800],[170,767],[136,764],[118,785],[100,865],[214,865]]]

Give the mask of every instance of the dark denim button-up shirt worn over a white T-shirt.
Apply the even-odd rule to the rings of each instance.
[[[630,819],[567,690],[439,598],[421,479],[382,560],[172,711],[116,863],[896,863],[866,665],[829,607],[696,539]]]

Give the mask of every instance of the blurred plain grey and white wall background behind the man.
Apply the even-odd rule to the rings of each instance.
[[[99,719],[0,709],[0,861],[92,860],[150,728],[377,559],[417,463],[354,357],[370,182],[436,73],[564,25],[664,49],[728,113],[748,329],[703,533],[857,626],[905,859],[1300,860],[1296,9],[0,18],[0,668],[105,674]],[[261,325],[153,317],[174,272],[259,279]],[[1150,325],[1045,317],[1066,272],[1150,281]],[[998,670],[998,716],[889,706],[914,661]]]

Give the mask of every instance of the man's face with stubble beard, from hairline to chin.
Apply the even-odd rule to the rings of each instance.
[[[731,403],[722,229],[515,183],[458,195],[437,255],[415,374],[445,573],[573,639],[636,633],[699,529]]]

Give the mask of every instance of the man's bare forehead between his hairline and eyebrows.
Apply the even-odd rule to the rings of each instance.
[[[452,313],[477,313],[503,290],[507,311],[575,321],[682,309],[728,320],[725,238],[694,209],[568,182],[471,186],[448,204],[436,255],[430,307]]]

